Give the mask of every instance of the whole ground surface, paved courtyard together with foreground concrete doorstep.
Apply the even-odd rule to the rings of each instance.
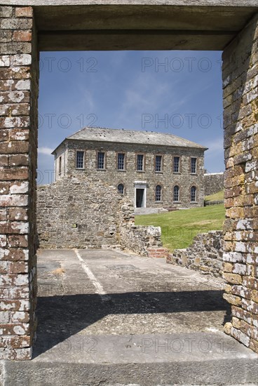
[[[6,362],[5,385],[256,384],[257,355],[222,332],[222,279],[118,251],[38,256],[34,359]]]

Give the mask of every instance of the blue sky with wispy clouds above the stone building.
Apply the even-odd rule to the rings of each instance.
[[[62,140],[85,126],[172,133],[224,171],[222,53],[76,51],[41,53],[38,182],[51,182]]]

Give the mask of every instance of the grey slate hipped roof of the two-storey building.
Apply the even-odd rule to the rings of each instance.
[[[161,145],[173,147],[194,147],[208,149],[196,142],[177,137],[169,133],[154,131],[133,131],[116,128],[86,127],[65,138],[66,140],[90,140],[100,142],[135,143],[140,145]]]

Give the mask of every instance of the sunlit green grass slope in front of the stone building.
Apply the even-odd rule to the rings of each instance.
[[[186,248],[194,237],[209,230],[220,230],[225,219],[224,205],[205,206],[152,215],[136,215],[135,225],[161,227],[163,246]]]

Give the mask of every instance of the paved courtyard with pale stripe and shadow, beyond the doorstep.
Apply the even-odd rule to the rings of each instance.
[[[222,331],[222,279],[116,251],[39,252],[38,336]]]

